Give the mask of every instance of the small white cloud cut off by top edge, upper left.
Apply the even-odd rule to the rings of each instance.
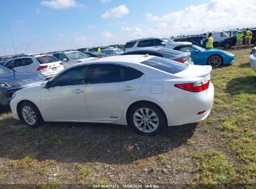
[[[83,4],[78,4],[75,0],[51,0],[41,1],[42,6],[52,7],[54,9],[69,9],[71,7],[84,7]]]

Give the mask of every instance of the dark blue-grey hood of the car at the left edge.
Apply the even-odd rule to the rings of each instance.
[[[44,78],[36,73],[8,73],[0,75],[0,82],[9,83],[12,86],[27,86],[44,81]]]

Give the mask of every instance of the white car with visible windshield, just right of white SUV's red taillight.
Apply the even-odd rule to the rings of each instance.
[[[54,55],[54,57],[58,58],[63,63],[64,68],[69,68],[76,63],[97,59],[89,57],[89,55],[80,51],[62,51],[52,53],[52,55]]]

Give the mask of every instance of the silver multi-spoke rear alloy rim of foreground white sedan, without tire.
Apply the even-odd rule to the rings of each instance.
[[[143,132],[150,133],[156,131],[159,126],[158,115],[149,108],[140,108],[133,114],[135,126]]]

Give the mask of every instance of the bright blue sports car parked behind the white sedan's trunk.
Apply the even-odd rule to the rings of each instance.
[[[235,61],[235,55],[232,53],[219,49],[206,50],[192,44],[179,45],[174,50],[191,52],[191,58],[195,65],[211,65],[216,68],[220,65],[229,65]]]

